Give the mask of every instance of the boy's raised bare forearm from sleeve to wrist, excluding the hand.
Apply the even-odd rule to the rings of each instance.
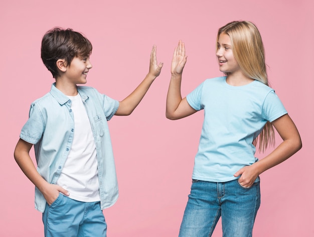
[[[154,81],[156,76],[148,73],[144,80],[129,94],[126,98],[120,101],[119,108],[115,115],[129,115],[136,108],[139,102],[142,100],[150,85]]]

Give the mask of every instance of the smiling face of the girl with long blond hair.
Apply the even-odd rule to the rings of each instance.
[[[220,34],[218,38],[216,55],[221,72],[228,74],[228,76],[239,72],[242,74],[240,66],[232,53],[230,37],[225,33]]]

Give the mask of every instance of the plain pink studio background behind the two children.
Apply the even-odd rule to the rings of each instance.
[[[55,26],[87,36],[93,44],[87,85],[118,100],[144,78],[151,46],[158,46],[158,60],[165,63],[160,77],[130,116],[109,122],[120,197],[104,214],[111,237],[177,236],[203,112],[180,121],[165,117],[173,50],[184,40],[189,56],[185,96],[204,79],[222,75],[215,58],[216,33],[233,20],[258,26],[270,83],[303,142],[296,155],[261,175],[262,204],[254,236],[314,236],[311,0],[12,0],[1,1],[0,9],[1,236],[43,236],[34,185],[14,161],[13,151],[30,103],[54,81],[41,61],[40,45],[44,33]],[[221,236],[220,222],[213,236]]]

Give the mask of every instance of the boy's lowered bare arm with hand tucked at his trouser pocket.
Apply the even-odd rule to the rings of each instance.
[[[14,151],[14,158],[24,174],[42,192],[47,203],[51,205],[51,203],[53,203],[57,199],[59,192],[63,193],[64,195],[69,195],[69,193],[67,190],[58,185],[48,183],[37,172],[34,163],[30,157],[30,150],[32,146],[33,144],[30,144],[20,139]]]

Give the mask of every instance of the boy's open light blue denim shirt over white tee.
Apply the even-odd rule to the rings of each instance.
[[[107,121],[115,114],[119,101],[96,89],[78,86],[91,124],[98,162],[101,209],[112,206],[118,198],[118,184]],[[56,184],[69,155],[74,128],[71,99],[56,88],[31,104],[29,120],[20,138],[34,144],[37,170],[49,183]],[[46,200],[35,187],[35,208],[44,212]]]

